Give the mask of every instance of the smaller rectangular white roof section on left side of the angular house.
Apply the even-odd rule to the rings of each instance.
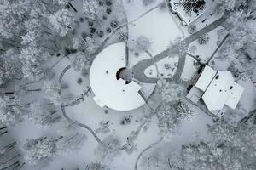
[[[202,91],[206,91],[207,87],[212,82],[212,79],[215,77],[216,73],[217,71],[213,70],[212,67],[206,65],[204,70],[201,72],[199,79],[195,83],[195,87],[201,89]]]

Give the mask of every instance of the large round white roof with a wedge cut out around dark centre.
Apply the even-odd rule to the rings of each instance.
[[[90,67],[90,86],[97,105],[108,106],[117,111],[130,111],[143,105],[145,101],[138,94],[137,82],[125,84],[125,80],[117,80],[116,73],[125,67],[125,42],[115,43],[103,49],[96,56]]]

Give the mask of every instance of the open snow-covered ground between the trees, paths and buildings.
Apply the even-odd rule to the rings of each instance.
[[[154,4],[143,6],[142,1],[134,0],[133,3],[127,3],[123,1],[125,6],[125,13],[128,20],[129,29],[129,39],[128,44],[135,42],[137,37],[144,36],[148,37],[152,42],[152,47],[148,49],[147,52],[137,52],[129,51],[129,66],[135,65],[138,61],[143,59],[149,59],[152,56],[160,54],[162,51],[166,50],[170,46],[170,42],[175,41],[178,37],[184,39],[189,36],[186,26],[182,26],[177,20],[177,16],[171,14],[167,8],[160,8],[161,0],[156,0]],[[79,3],[75,4],[78,7]],[[150,10],[152,9],[152,10]],[[79,14],[76,14],[79,16]],[[77,17],[78,17],[77,16]],[[217,20],[220,16],[212,16],[209,20],[204,23],[201,17],[195,22],[198,30],[201,30],[204,25],[210,24],[213,20]],[[106,21],[108,22],[108,20]],[[86,26],[85,26],[86,25]],[[79,30],[76,32],[77,35],[81,35],[84,27],[87,29],[87,24],[83,23]],[[102,29],[106,29],[102,27]],[[206,63],[207,59],[210,58],[213,51],[218,47],[218,30],[221,27],[208,32],[210,37],[207,44],[199,44],[196,41],[189,44],[188,53],[195,58],[189,56],[185,57],[184,69],[181,74],[181,79],[185,82],[189,82],[197,74],[200,67],[198,59],[202,63]],[[108,35],[104,35],[102,39],[108,38]],[[102,41],[97,39],[97,41]],[[113,37],[108,43],[118,42],[116,37]],[[108,44],[107,43],[107,44]],[[198,57],[196,57],[198,55]],[[228,61],[226,61],[228,62]],[[159,78],[172,78],[172,76],[177,71],[178,56],[167,56],[165,59],[161,59],[159,62],[155,63],[151,67],[145,70],[145,74],[148,77],[159,77]],[[69,59],[61,59],[60,63],[55,66],[54,71],[56,74],[56,82],[61,76],[61,71],[64,70],[68,65],[71,65]],[[227,63],[222,61],[215,61],[214,68],[218,70],[226,70]],[[81,79],[81,83],[78,80]],[[241,105],[247,111],[250,111],[255,106],[256,100],[256,90],[253,83],[246,77],[241,78],[239,82],[243,87],[245,87],[245,92],[241,97]],[[79,71],[75,71],[73,68],[67,70],[65,75],[62,77],[61,84],[67,84],[67,88],[62,89],[62,97],[67,98],[67,101],[73,101],[79,99],[85,91],[90,88],[89,77],[84,77]],[[155,88],[155,84],[142,83],[145,86],[148,94]],[[37,88],[38,84],[32,84],[31,88]],[[147,92],[144,92],[147,94]],[[133,111],[113,111],[107,107],[101,108],[96,105],[93,100],[94,94],[89,92],[84,96],[84,99],[79,103],[79,105],[67,106],[65,108],[67,116],[69,116],[74,122],[81,123],[89,126],[91,129],[96,131],[100,127],[101,122],[108,122],[109,132],[108,133],[96,133],[100,139],[106,138],[109,134],[117,136],[121,145],[126,144],[127,137],[130,136],[132,131],[136,131],[140,125],[142,125],[142,118],[148,113],[148,105],[143,105],[142,107]],[[33,98],[38,98],[34,95]],[[181,123],[178,133],[172,135],[171,139],[164,139],[162,143],[171,144],[172,147],[177,148],[182,144],[189,144],[189,142],[195,141],[195,135],[200,134],[201,138],[207,138],[207,124],[212,123],[212,116],[208,116],[205,111],[200,108],[196,108],[194,105],[189,104],[193,108],[195,114],[190,116],[189,119],[183,120]],[[61,110],[61,108],[59,108]],[[121,125],[121,121],[127,117],[131,116],[131,123],[128,125]],[[241,117],[244,115],[241,115]],[[131,170],[134,169],[135,163],[137,161],[137,156],[148,147],[149,144],[153,144],[161,138],[160,130],[158,127],[159,119],[153,116],[152,119],[146,123],[145,128],[143,128],[135,140],[137,145],[137,150],[133,151],[131,154],[126,153],[125,150],[121,151],[121,154],[114,158],[111,162],[111,170]],[[32,122],[25,120],[20,122],[15,127],[9,129],[11,138],[17,142],[18,149],[21,154],[25,155],[26,151],[23,149],[23,145],[26,143],[26,139],[39,138],[45,135],[55,135],[56,132],[61,128],[60,124],[56,124],[49,129],[42,130],[35,126]],[[24,170],[56,170],[65,169],[72,170],[76,168],[84,169],[92,161],[101,161],[96,156],[96,148],[98,143],[91,133],[89,133],[83,127],[79,127],[82,132],[86,134],[86,141],[81,146],[78,151],[71,153],[67,156],[54,156],[47,165],[43,167],[35,167],[30,165],[25,165],[22,167]],[[140,162],[138,162],[140,165]],[[140,169],[140,167],[138,167]]]

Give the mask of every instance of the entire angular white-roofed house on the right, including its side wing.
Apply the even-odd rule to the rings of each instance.
[[[201,99],[212,114],[220,117],[228,108],[236,108],[243,91],[230,71],[215,71],[206,65],[186,97],[195,104]]]

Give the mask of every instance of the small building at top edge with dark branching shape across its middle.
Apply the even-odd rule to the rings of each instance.
[[[183,25],[188,26],[204,14],[207,0],[170,0],[169,8],[173,14],[177,14]]]

